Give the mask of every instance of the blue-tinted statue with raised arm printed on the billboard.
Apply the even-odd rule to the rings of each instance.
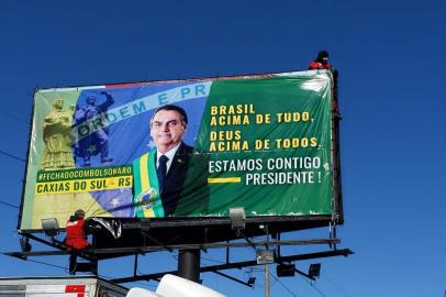
[[[96,103],[94,96],[87,97],[87,106],[76,107],[74,114],[75,125],[80,124],[86,121],[98,121],[105,123],[105,112],[109,107],[114,103],[114,99],[108,91],[101,91],[101,95],[105,96],[105,101],[101,105]],[[99,118],[99,119],[98,119]],[[101,163],[108,164],[113,160],[109,157],[109,128],[99,125],[94,132],[90,135],[79,140],[75,145],[76,157],[81,157],[83,160],[83,166],[88,167],[91,165],[91,156],[101,155]]]

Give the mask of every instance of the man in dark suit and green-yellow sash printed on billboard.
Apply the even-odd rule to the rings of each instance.
[[[156,148],[133,162],[136,217],[172,216],[178,205],[192,147],[182,138],[188,116],[172,105],[155,110],[149,128]]]

